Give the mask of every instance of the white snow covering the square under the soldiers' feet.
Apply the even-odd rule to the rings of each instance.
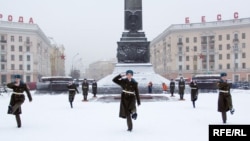
[[[208,141],[208,126],[223,124],[217,112],[217,93],[200,93],[196,108],[192,107],[190,94],[185,101],[178,95],[157,94],[165,101],[142,100],[138,118],[133,120],[133,131],[127,132],[126,120],[118,117],[119,101],[103,102],[98,95],[82,102],[77,94],[74,108],[70,108],[68,95],[35,94],[33,101],[26,98],[22,106],[22,127],[16,127],[15,117],[7,114],[11,94],[0,96],[1,141]],[[152,95],[151,95],[152,96]],[[235,114],[227,113],[226,124],[250,123],[250,91],[232,90]],[[92,99],[92,100],[91,100]]]

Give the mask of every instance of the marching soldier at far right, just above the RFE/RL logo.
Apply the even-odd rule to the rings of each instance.
[[[234,108],[232,104],[232,96],[230,93],[230,84],[227,83],[227,74],[221,73],[221,79],[217,83],[219,88],[219,97],[218,97],[218,112],[221,112],[223,123],[227,122],[227,111],[230,111],[231,114],[234,114]]]

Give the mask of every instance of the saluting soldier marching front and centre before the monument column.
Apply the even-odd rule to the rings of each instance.
[[[122,74],[117,75],[113,78],[113,82],[120,85],[122,88],[119,117],[127,119],[128,131],[131,132],[133,129],[131,118],[134,120],[137,118],[136,100],[138,106],[141,104],[141,101],[138,83],[132,78],[133,71],[127,70],[126,78],[123,78],[124,76],[125,75]]]

